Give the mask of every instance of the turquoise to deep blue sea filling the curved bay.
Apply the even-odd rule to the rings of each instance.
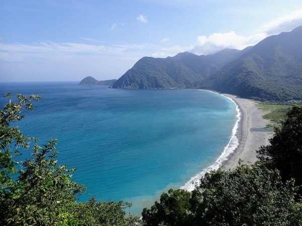
[[[17,125],[41,144],[58,139],[59,162],[77,168],[73,180],[89,190],[80,200],[123,199],[136,214],[214,163],[237,114],[231,100],[200,90],[0,83],[7,92],[42,97]]]

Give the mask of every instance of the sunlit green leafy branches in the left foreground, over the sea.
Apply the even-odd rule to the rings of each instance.
[[[11,98],[10,94],[6,95]],[[78,202],[83,185],[71,180],[74,169],[58,165],[56,140],[40,146],[35,137],[24,136],[18,127],[21,109],[32,110],[38,96],[17,95],[0,111],[0,225],[135,225],[137,217],[125,217],[127,202]],[[32,157],[16,162],[19,149],[33,146]]]

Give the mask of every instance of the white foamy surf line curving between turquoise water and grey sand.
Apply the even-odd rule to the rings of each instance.
[[[219,93],[216,93],[216,92],[213,92],[213,91],[209,91],[209,92],[215,93],[215,94],[219,94]],[[205,175],[205,173],[209,172],[211,170],[217,170],[221,166],[221,163],[223,161],[228,160],[228,156],[231,153],[233,153],[236,150],[236,148],[238,147],[238,145],[239,145],[239,140],[238,140],[238,137],[236,136],[236,133],[237,133],[237,130],[238,130],[239,122],[241,120],[241,117],[240,117],[241,116],[240,108],[239,108],[239,106],[237,105],[237,103],[232,98],[226,97],[223,94],[219,94],[219,95],[221,95],[221,96],[223,96],[225,98],[228,98],[236,106],[236,112],[237,112],[236,122],[235,122],[235,125],[234,125],[233,130],[232,130],[232,135],[231,135],[230,141],[224,147],[221,155],[215,161],[214,164],[212,164],[211,166],[205,168],[202,172],[196,174],[194,177],[191,177],[191,179],[184,186],[180,187],[181,189],[184,189],[184,190],[187,190],[187,191],[193,191],[195,189],[195,187],[199,185],[200,179]]]

